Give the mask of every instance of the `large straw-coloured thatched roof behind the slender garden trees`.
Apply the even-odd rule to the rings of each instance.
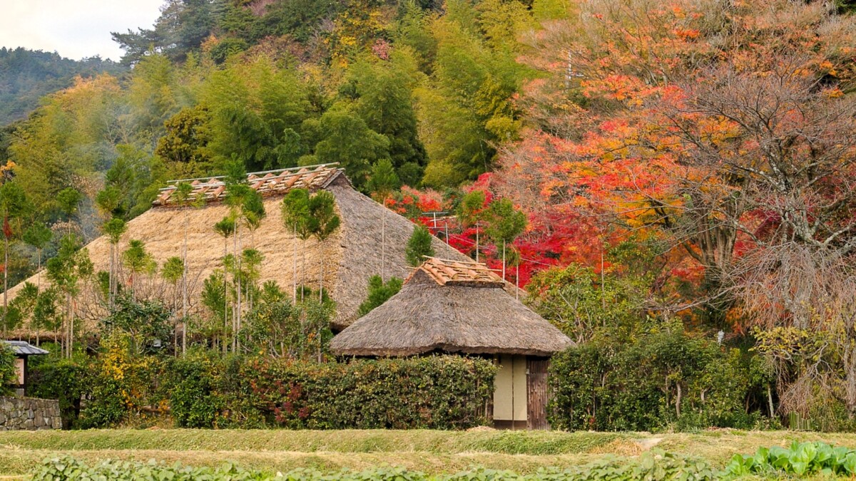
[[[300,169],[287,175],[282,172],[276,175],[249,175],[251,186],[262,189],[267,217],[252,235],[244,229],[242,246],[254,247],[265,257],[260,267],[259,282],[276,281],[287,292],[291,292],[293,286],[295,260],[298,283],[318,288],[318,274],[324,259],[324,288],[329,288],[331,296],[336,300],[333,324],[336,329],[342,329],[356,319],[357,309],[368,294],[368,278],[380,274],[382,265],[385,265],[386,278],[404,278],[411,272],[407,266],[405,248],[413,232],[413,223],[354,190],[340,169],[321,166],[305,169],[300,175],[295,175],[297,173],[300,173]],[[262,180],[264,182],[259,183]],[[290,188],[304,186],[313,190],[323,188],[332,193],[342,219],[341,228],[324,242],[324,246],[314,239],[306,241],[305,255],[303,242],[295,241],[292,232],[283,226],[281,213],[282,196]],[[124,251],[128,241],[136,239],[145,242],[146,250],[152,253],[158,265],[163,265],[170,257],[181,257],[187,215],[191,312],[203,312],[199,302],[203,280],[213,270],[222,268],[223,264],[223,237],[217,235],[213,226],[228,214],[229,207],[214,197],[214,192],[219,188],[217,179],[197,182],[194,187],[194,195],[201,193],[211,198],[204,207],[175,206],[169,195],[163,195],[171,193],[168,187],[163,190],[155,207],[128,223],[128,231],[122,236],[118,249]],[[383,232],[382,226],[385,226]],[[385,252],[381,248],[382,238],[385,238]],[[433,247],[438,256],[467,260],[467,256],[438,239],[433,239]],[[230,239],[229,250],[232,248],[233,241]],[[86,249],[96,271],[108,269],[110,244],[106,237],[98,237]],[[124,279],[128,282],[127,273]],[[36,283],[37,276],[27,281]],[[41,284],[44,286],[46,283],[45,276],[42,276]],[[160,276],[145,276],[134,283],[138,297],[175,301],[178,294],[175,287],[164,282]],[[14,297],[21,285],[9,288],[9,294]],[[180,296],[177,302],[180,306]],[[93,285],[83,286],[77,300],[77,315],[90,322],[104,315],[104,306],[98,301]]]

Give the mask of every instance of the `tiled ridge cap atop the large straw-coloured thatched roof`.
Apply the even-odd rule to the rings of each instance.
[[[308,167],[295,167],[292,169],[266,170],[264,172],[253,172],[247,174],[247,182],[250,187],[263,197],[288,193],[292,188],[308,188],[311,190],[324,188],[330,185],[342,169],[336,167],[336,163],[324,163]],[[175,205],[173,196],[178,184],[187,182],[193,186],[188,203],[200,198],[205,202],[222,200],[226,194],[226,183],[223,176],[207,177],[204,179],[184,179],[181,181],[169,181],[169,186],[160,189],[158,198],[152,205]]]

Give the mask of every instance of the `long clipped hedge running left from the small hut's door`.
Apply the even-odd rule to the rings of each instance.
[[[188,428],[450,430],[490,423],[496,367],[486,359],[314,363],[210,351],[181,359],[122,352],[108,351],[86,366],[44,363],[33,374],[42,392],[61,394],[69,425],[84,428],[162,425],[164,418]]]

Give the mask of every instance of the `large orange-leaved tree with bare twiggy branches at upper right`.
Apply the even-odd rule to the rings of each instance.
[[[530,39],[498,192],[586,226],[568,251],[660,241],[722,327],[743,253],[853,247],[854,33],[818,2],[582,3]]]

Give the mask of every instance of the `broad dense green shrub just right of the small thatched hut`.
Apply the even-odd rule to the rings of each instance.
[[[769,379],[759,359],[680,328],[625,344],[589,341],[551,360],[550,424],[601,431],[769,424],[763,414]]]

